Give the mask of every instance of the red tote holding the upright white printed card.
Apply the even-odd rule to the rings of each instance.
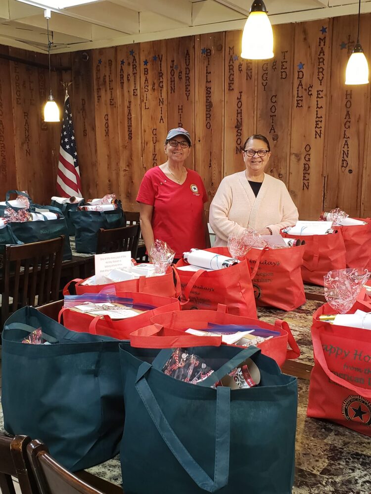
[[[69,295],[69,287],[72,283],[75,283],[76,295],[83,295],[84,293],[99,293],[103,288],[108,286],[115,287],[118,291],[136,291],[138,293],[149,293],[152,295],[159,295],[161,297],[175,297],[178,298],[181,294],[180,280],[178,273],[169,266],[166,274],[162,276],[140,276],[136,280],[126,280],[117,283],[109,283],[106,285],[82,285],[86,280],[76,278],[70,281],[63,288],[63,295]]]

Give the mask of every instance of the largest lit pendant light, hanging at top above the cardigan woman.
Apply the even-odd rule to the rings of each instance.
[[[241,58],[267,60],[272,58],[273,31],[263,0],[255,0],[242,33]]]

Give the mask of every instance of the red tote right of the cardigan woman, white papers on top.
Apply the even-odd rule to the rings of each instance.
[[[289,235],[282,237],[305,240],[301,276],[304,282],[324,286],[324,276],[333,269],[344,269],[345,245],[339,232],[328,235]]]

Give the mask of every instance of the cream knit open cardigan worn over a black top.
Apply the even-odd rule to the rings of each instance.
[[[226,246],[232,232],[239,234],[246,227],[269,226],[273,234],[278,234],[281,228],[295,225],[298,218],[298,210],[281,180],[264,173],[255,198],[244,171],[223,178],[209,212],[215,247]]]

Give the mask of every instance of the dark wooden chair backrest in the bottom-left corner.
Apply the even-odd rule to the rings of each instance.
[[[39,494],[26,447],[28,436],[5,436],[0,433],[0,490],[2,494],[15,494],[11,477],[16,477],[22,494]]]

